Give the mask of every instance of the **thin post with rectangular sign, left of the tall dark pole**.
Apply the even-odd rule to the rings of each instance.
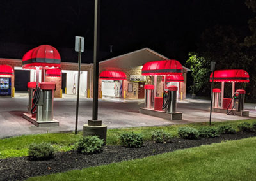
[[[81,54],[82,54],[82,52],[84,52],[84,37],[76,36],[75,51],[78,52],[78,80],[77,80],[78,87],[77,87],[77,99],[76,99],[76,126],[75,126],[75,134],[77,134],[79,91],[80,91]]]

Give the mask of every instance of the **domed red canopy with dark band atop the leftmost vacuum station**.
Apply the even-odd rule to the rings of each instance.
[[[36,69],[36,67],[60,68],[58,50],[51,45],[40,45],[26,52],[22,58],[22,68]]]

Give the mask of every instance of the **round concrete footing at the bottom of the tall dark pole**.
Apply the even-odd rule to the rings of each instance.
[[[106,144],[107,126],[90,126],[88,124],[84,124],[83,136],[99,136],[100,139],[103,139],[104,144]]]

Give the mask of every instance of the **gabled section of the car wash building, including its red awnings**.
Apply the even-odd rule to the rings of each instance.
[[[143,64],[163,60],[168,60],[168,57],[164,57],[150,48],[143,48],[99,62],[99,94],[115,98],[143,99],[145,96],[144,86],[154,84],[154,78],[141,75]],[[108,71],[108,76],[103,75],[106,71]],[[182,76],[167,77],[167,85],[178,87],[177,99],[186,99],[187,71],[190,70],[183,67]],[[162,94],[163,78],[158,76],[157,96],[162,96]]]

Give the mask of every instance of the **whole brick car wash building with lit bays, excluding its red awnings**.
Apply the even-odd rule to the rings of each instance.
[[[105,61],[99,62],[99,73],[101,71],[110,70],[110,71],[123,71],[127,75],[127,79],[123,82],[120,81],[104,81],[99,80],[99,97],[101,94],[104,95],[104,91],[109,89],[109,86],[112,85],[122,85],[118,95],[115,97],[122,98],[144,98],[144,85],[154,83],[154,78],[150,76],[141,76],[141,68],[143,64],[150,61],[161,61],[167,60],[167,57],[150,50],[150,48],[143,48],[128,54],[120,55],[118,57],[113,57]],[[34,81],[34,72],[33,70],[23,70],[22,69],[22,59],[0,59],[0,64],[7,64],[12,66],[15,69],[15,76],[12,78],[12,87],[15,88],[18,84],[23,84],[26,86],[26,83],[29,81]],[[56,82],[56,91],[54,92],[54,97],[60,97],[61,91],[67,94],[74,94],[74,87],[77,88],[77,63],[71,62],[61,62],[61,71],[62,77],[44,77],[44,74],[40,75],[40,80],[45,81],[54,81]],[[82,90],[82,96],[92,98],[93,92],[93,64],[81,64],[81,71],[84,72],[82,78],[82,85],[80,85],[80,90]],[[186,98],[186,75],[188,68],[183,69],[184,82],[178,82],[177,86],[179,87],[179,99]],[[18,74],[28,75],[28,80],[20,80]],[[15,78],[19,81],[15,82]],[[20,83],[23,81],[22,83]],[[119,84],[118,84],[119,83]],[[19,85],[20,86],[20,85]],[[25,87],[26,88],[26,87]],[[116,88],[116,87],[115,87]],[[120,87],[119,87],[120,88]],[[24,89],[24,88],[23,88]],[[111,89],[111,88],[110,88]],[[72,90],[73,92],[70,92]],[[18,91],[15,89],[15,91]],[[157,95],[161,96],[163,93],[163,82],[161,76],[157,78]]]

